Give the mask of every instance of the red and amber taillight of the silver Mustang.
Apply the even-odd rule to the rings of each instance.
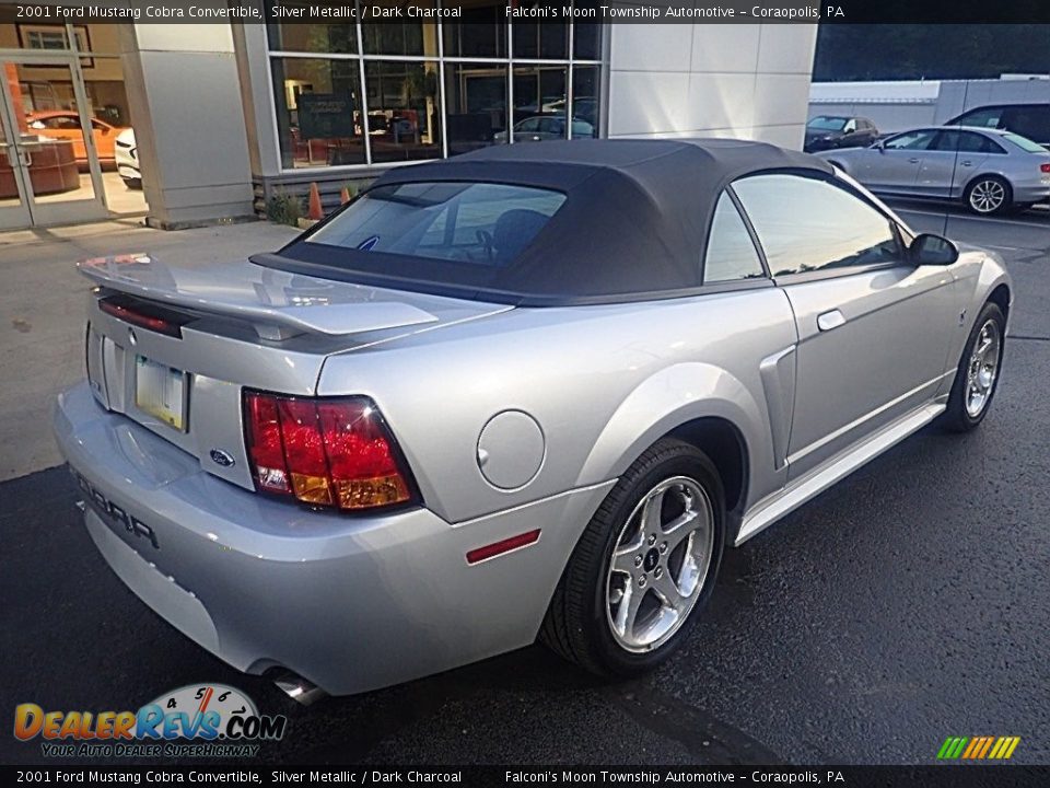
[[[245,391],[244,424],[255,484],[264,493],[352,510],[413,498],[394,437],[368,397]]]

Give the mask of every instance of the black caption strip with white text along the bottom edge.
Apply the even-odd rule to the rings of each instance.
[[[1050,766],[0,766],[11,783],[77,785],[351,786],[843,786],[1028,788]],[[5,779],[4,784],[10,785]]]

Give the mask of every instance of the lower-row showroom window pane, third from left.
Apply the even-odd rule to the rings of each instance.
[[[448,154],[506,142],[506,66],[445,63]]]

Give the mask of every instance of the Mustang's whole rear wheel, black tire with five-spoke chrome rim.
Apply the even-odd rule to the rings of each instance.
[[[666,660],[714,589],[724,500],[703,452],[679,440],[657,441],[584,530],[540,639],[600,676],[637,675]]]

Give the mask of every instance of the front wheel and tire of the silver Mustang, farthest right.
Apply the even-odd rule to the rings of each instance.
[[[1006,317],[998,304],[981,309],[955,373],[944,425],[956,432],[967,432],[988,415],[999,384],[1006,337]]]

